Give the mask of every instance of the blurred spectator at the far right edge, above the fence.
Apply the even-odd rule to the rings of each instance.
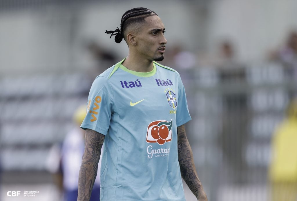
[[[270,59],[280,61],[287,76],[297,78],[297,31],[289,33],[285,46],[272,52]]]

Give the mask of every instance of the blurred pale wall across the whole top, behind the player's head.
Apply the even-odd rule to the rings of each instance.
[[[105,34],[120,25],[133,7],[154,10],[166,27],[167,46],[181,44],[214,54],[218,42],[231,38],[242,61],[263,60],[297,27],[296,0],[212,0],[205,15],[189,1],[110,1],[92,4],[49,5],[0,13],[0,76],[18,73],[85,71],[94,61],[85,48],[98,41],[120,57],[124,41],[116,44]],[[204,10],[205,11],[205,10]],[[207,18],[205,18],[207,17]]]

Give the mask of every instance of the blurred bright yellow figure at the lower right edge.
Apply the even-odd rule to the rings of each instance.
[[[275,130],[269,179],[272,201],[297,200],[297,99],[290,103],[287,117]]]

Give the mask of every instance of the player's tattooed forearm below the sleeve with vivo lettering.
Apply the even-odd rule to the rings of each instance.
[[[103,134],[86,129],[85,151],[78,176],[78,201],[90,200],[104,138]]]

